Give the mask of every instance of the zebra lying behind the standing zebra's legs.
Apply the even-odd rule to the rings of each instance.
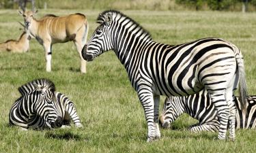
[[[247,114],[241,110],[238,97],[235,99],[237,106],[236,129],[255,128],[256,126],[256,96],[247,97]],[[214,105],[210,101],[208,92],[201,92],[186,97],[169,97],[165,99],[160,124],[169,128],[171,124],[183,113],[199,120],[199,123],[189,127],[190,131],[218,131],[220,122]]]

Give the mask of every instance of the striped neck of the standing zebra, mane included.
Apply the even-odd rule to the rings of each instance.
[[[117,58],[126,68],[132,86],[135,87],[139,69],[136,63],[141,62],[141,54],[143,54],[145,46],[152,42],[152,38],[150,33],[147,33],[143,27],[128,16],[121,12],[110,12],[113,14],[110,31],[111,44],[113,44]],[[98,18],[104,18],[103,14]]]

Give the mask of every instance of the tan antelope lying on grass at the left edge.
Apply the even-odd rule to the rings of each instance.
[[[9,39],[0,44],[0,51],[8,52],[27,52],[29,51],[29,40],[31,37],[28,33],[23,32],[18,40]]]

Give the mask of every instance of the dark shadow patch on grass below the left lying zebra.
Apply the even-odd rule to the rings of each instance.
[[[47,132],[45,137],[47,139],[65,139],[65,140],[76,140],[79,141],[81,140],[81,136],[76,135],[74,133],[51,133],[51,132]]]

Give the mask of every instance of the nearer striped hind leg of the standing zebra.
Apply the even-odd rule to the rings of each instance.
[[[221,92],[214,92],[214,90],[208,90],[212,103],[214,104],[217,112],[218,118],[220,120],[220,127],[218,129],[218,139],[226,139],[227,133],[227,122],[229,120],[229,107],[227,106],[227,101],[225,99],[225,90]]]

